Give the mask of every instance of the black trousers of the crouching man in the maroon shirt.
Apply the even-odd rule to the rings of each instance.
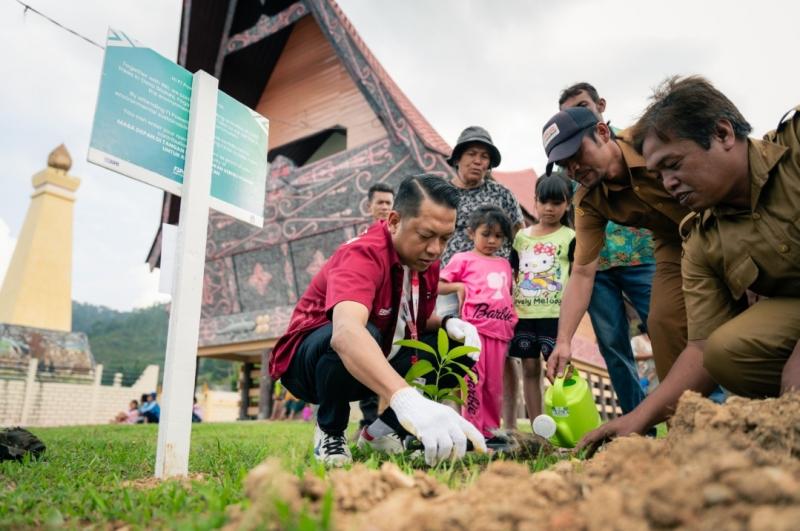
[[[372,323],[367,323],[367,331],[380,344],[381,334]],[[281,383],[297,398],[319,404],[317,423],[324,432],[343,433],[350,420],[350,402],[375,396],[375,393],[347,372],[339,354],[331,348],[332,332],[333,325],[328,323],[306,336],[281,377]],[[437,333],[429,333],[420,340],[436,349],[436,338]],[[451,348],[453,346],[451,341]],[[405,376],[415,354],[437,366],[435,358],[427,352],[406,347],[401,348],[389,364],[398,374]],[[459,362],[462,360],[464,365],[473,365],[467,356]],[[426,383],[433,383],[435,376],[429,373],[425,378]],[[440,380],[439,386],[455,386],[455,379]],[[401,435],[406,433],[391,408],[387,408],[380,418]]]

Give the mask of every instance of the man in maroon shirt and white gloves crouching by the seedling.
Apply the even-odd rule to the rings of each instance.
[[[452,339],[480,347],[474,326],[433,313],[439,256],[455,230],[457,206],[458,194],[444,179],[405,179],[388,220],[340,246],[298,301],[272,351],[270,374],[319,404],[318,460],[334,466],[352,460],[344,435],[350,402],[372,393],[390,406],[376,422],[418,437],[429,464],[463,456],[467,439],[485,451],[472,424],[406,383],[414,353],[393,345],[408,337],[435,344],[430,332],[443,326]]]

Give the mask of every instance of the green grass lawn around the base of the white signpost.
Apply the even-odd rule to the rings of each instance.
[[[278,457],[298,475],[311,469],[313,424],[240,422],[195,424],[189,460],[191,481],[155,482],[155,425],[34,428],[47,445],[36,462],[0,463],[0,529],[42,527],[212,529],[225,524],[229,505],[247,503],[248,471]],[[378,467],[386,458],[354,452],[356,462]],[[392,458],[404,470],[424,468],[421,458]],[[477,477],[487,456],[468,456],[432,470],[451,487]],[[531,463],[548,466],[553,458]],[[202,477],[197,476],[201,474]],[[308,518],[302,528],[319,528]],[[291,526],[290,526],[291,527]]]

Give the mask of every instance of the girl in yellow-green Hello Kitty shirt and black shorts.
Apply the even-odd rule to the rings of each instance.
[[[508,351],[522,359],[522,390],[531,419],[542,413],[542,360],[553,351],[558,335],[561,296],[569,278],[575,231],[569,227],[572,187],[562,177],[536,181],[539,223],[514,238],[514,309],[519,321]]]

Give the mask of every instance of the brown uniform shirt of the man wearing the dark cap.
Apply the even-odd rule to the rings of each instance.
[[[580,265],[600,254],[608,221],[652,230],[656,262],[680,261],[678,225],[689,210],[667,193],[657,173],[647,170],[627,133],[622,131],[616,142],[628,167],[628,178],[604,181],[592,189],[580,187],[575,193],[575,262]]]

